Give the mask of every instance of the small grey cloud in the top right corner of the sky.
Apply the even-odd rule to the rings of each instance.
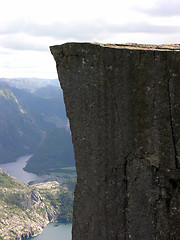
[[[158,17],[175,17],[180,16],[180,1],[179,0],[159,0],[151,8],[143,8],[138,6],[133,8],[138,12],[146,13],[150,16]]]

